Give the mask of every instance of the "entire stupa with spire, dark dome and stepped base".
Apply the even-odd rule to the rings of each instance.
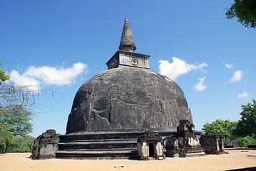
[[[126,19],[119,50],[106,63],[108,70],[83,83],[76,93],[56,157],[134,157],[137,138],[145,130],[165,138],[177,133],[180,120],[193,123],[183,90],[151,71],[150,56],[135,50]]]

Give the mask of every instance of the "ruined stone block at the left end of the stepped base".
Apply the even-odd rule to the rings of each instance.
[[[56,131],[46,130],[46,133],[39,135],[34,140],[34,149],[30,157],[32,159],[53,158],[57,150]]]

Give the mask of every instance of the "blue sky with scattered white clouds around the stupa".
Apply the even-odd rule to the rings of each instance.
[[[126,18],[135,52],[150,55],[150,68],[183,89],[197,130],[216,119],[239,120],[240,105],[256,95],[256,32],[225,18],[232,3],[0,1],[1,68],[17,85],[48,92],[37,99],[31,135],[66,133],[76,91],[107,70]]]

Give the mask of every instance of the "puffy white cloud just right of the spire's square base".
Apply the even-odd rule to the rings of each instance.
[[[186,63],[185,61],[181,60],[180,58],[173,57],[173,63],[169,63],[168,61],[160,60],[159,69],[160,73],[165,76],[168,76],[170,79],[175,80],[179,76],[182,76],[185,73],[189,73],[190,71],[200,69],[203,70],[204,67],[207,67],[208,64],[200,63],[200,65],[194,65]],[[205,71],[207,72],[207,71]]]

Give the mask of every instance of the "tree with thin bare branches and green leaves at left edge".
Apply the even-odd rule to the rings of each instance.
[[[9,78],[0,68],[0,148],[3,152],[9,150],[17,140],[16,136],[22,139],[32,132],[32,107],[36,105],[34,95],[42,91],[4,82]]]

